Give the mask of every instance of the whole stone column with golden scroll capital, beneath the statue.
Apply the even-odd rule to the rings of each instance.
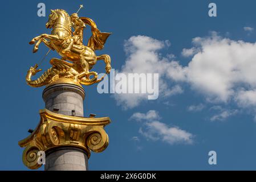
[[[19,141],[25,147],[22,160],[30,169],[42,166],[39,151],[46,154],[46,171],[88,169],[91,151],[101,152],[108,146],[104,127],[109,117],[83,117],[82,86],[59,78],[43,90],[46,108],[39,111],[40,121],[29,137]]]

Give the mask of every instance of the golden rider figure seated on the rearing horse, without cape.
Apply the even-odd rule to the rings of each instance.
[[[74,44],[78,46],[83,45],[83,29],[86,27],[86,24],[81,19],[79,19],[78,14],[76,13],[73,13],[70,18],[72,22],[72,27],[74,28],[74,32],[72,38],[70,39],[68,47],[63,51],[70,51]]]

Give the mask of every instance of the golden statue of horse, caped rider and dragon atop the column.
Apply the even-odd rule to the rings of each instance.
[[[80,6],[81,8],[82,6]],[[80,10],[80,9],[79,9]],[[92,36],[87,46],[83,45],[83,30],[86,24],[91,26]],[[61,59],[50,60],[52,67],[43,73],[37,80],[31,80],[42,69],[36,64],[27,72],[27,84],[33,87],[48,85],[58,78],[69,78],[83,85],[91,85],[103,79],[97,78],[96,72],[90,72],[97,60],[105,62],[105,72],[111,70],[111,58],[108,55],[95,55],[95,50],[104,48],[104,44],[111,33],[100,32],[95,22],[86,17],[80,17],[77,13],[71,16],[64,10],[51,10],[46,28],[52,28],[51,35],[42,34],[30,41],[35,44],[33,53],[38,51],[38,46],[43,42],[48,48],[56,50]],[[74,31],[72,32],[72,28]],[[71,61],[68,62],[68,61]]]

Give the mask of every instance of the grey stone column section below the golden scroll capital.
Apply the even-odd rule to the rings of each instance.
[[[58,148],[46,154],[45,171],[87,171],[87,155],[78,148]]]

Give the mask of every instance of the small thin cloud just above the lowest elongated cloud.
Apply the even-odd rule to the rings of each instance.
[[[155,119],[160,119],[159,113],[156,110],[149,110],[147,113],[134,113],[129,118],[129,120],[135,121],[153,121]]]

